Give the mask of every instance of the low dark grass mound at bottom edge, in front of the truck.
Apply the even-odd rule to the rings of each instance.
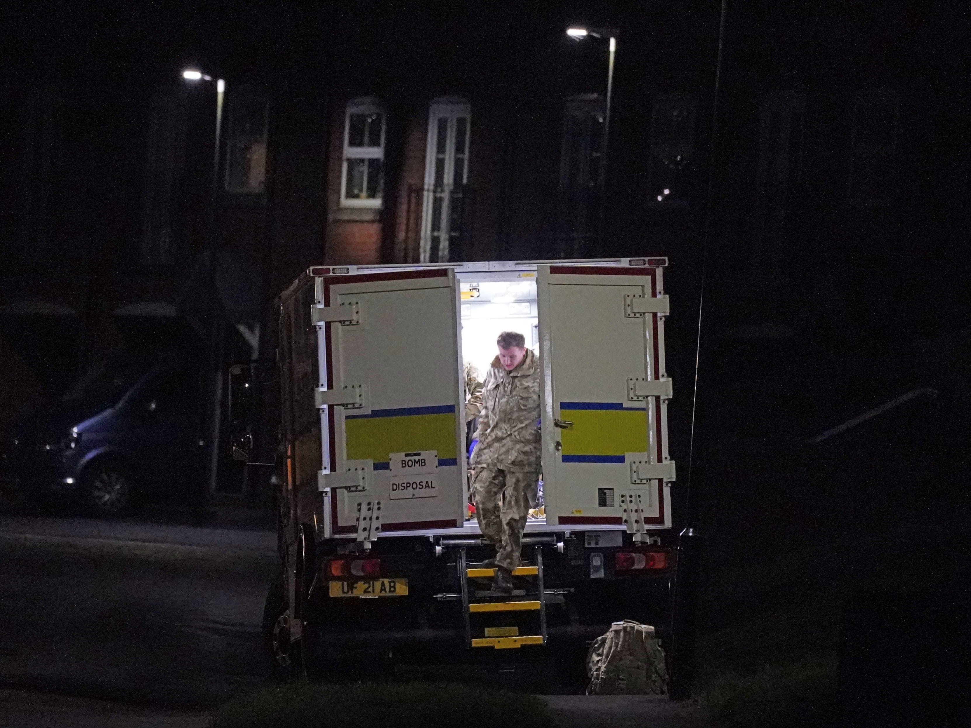
[[[449,683],[404,685],[292,682],[221,706],[214,728],[554,728],[545,702],[532,695]]]

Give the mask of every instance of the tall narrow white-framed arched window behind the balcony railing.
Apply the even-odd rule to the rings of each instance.
[[[428,111],[420,260],[460,259],[457,246],[469,212],[469,124],[471,107],[464,99],[435,99]],[[452,257],[450,258],[450,255]]]

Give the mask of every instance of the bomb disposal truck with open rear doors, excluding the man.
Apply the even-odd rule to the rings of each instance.
[[[319,266],[279,299],[278,674],[352,653],[582,646],[669,609],[666,258]],[[463,364],[543,368],[542,508],[510,597],[469,508]]]

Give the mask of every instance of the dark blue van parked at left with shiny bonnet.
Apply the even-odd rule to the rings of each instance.
[[[0,491],[12,501],[112,515],[134,500],[203,495],[198,364],[106,359],[0,442]]]

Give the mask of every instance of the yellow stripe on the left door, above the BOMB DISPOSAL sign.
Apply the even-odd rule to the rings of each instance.
[[[349,460],[387,462],[391,452],[436,450],[441,458],[456,457],[455,414],[405,414],[361,417],[344,422]]]

